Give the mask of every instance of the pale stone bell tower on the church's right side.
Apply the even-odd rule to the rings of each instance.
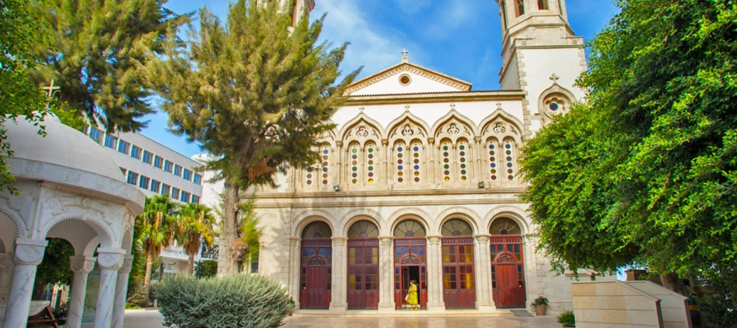
[[[573,35],[565,0],[496,1],[503,32],[499,83],[527,92],[525,130],[535,131],[584,97],[573,86],[587,69],[584,40]]]

